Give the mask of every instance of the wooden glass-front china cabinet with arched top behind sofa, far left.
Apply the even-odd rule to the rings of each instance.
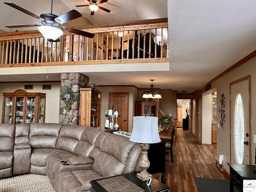
[[[45,117],[45,93],[29,93],[16,90],[3,93],[2,123],[43,123]]]

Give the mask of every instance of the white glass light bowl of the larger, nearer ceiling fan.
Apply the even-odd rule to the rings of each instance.
[[[40,26],[38,31],[42,33],[45,39],[56,40],[59,36],[63,35],[63,31],[53,26]]]

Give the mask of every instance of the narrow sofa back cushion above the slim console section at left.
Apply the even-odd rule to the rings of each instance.
[[[15,125],[15,144],[28,143],[29,141],[29,124]]]

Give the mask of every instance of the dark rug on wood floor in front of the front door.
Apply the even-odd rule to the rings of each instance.
[[[198,192],[229,192],[229,180],[194,177]],[[238,192],[234,187],[234,192]]]

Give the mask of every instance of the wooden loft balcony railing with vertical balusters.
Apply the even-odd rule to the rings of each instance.
[[[167,18],[78,28],[94,38],[64,32],[48,42],[37,30],[2,33],[0,67],[169,60]]]

